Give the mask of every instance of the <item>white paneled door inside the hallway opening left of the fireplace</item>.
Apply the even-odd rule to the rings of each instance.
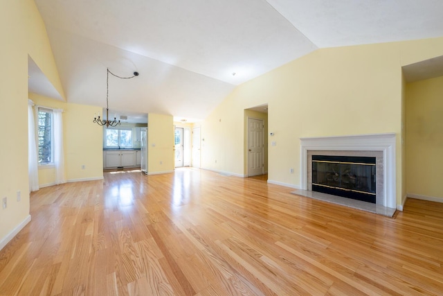
[[[262,119],[248,118],[248,176],[263,174],[263,131]]]

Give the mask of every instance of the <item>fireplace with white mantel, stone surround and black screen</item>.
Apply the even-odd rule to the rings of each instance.
[[[336,186],[338,182],[338,176],[336,174],[341,174],[341,185],[343,185],[342,187],[344,188],[333,189],[337,191],[354,191],[354,193],[356,193],[355,191],[364,191],[365,193],[362,193],[364,194],[363,196],[365,196],[364,200],[368,201],[367,204],[373,204],[374,207],[377,206],[377,211],[380,206],[386,209],[396,208],[395,133],[300,138],[300,143],[301,189],[298,191],[299,194],[302,193],[305,196],[311,196],[312,193],[316,192],[318,187],[323,187],[320,190],[324,190],[326,186],[323,185],[340,188],[341,186]],[[316,159],[318,156],[320,156],[320,159]],[[343,159],[340,157],[350,158]],[[323,165],[326,162],[338,164],[335,164],[332,168],[328,168]],[[348,166],[346,164],[347,162],[360,163],[354,164],[356,166],[362,163],[365,164],[359,168],[359,170],[364,171],[363,173],[366,175],[364,179],[363,177],[359,177],[361,180],[357,181],[357,175],[361,172],[356,171],[357,168],[355,167]],[[320,173],[318,172],[319,164]],[[315,170],[313,171],[313,166],[317,166],[314,182],[313,175]],[[340,170],[341,173],[338,173],[338,170]],[[361,190],[363,187],[364,190]],[[329,194],[333,196],[337,195],[337,193]],[[356,202],[358,202],[358,199],[359,198],[357,198]],[[345,198],[345,200],[347,199]]]

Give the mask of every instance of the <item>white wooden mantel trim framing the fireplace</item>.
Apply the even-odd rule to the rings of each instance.
[[[308,150],[359,150],[383,151],[383,207],[396,208],[396,148],[395,133],[361,134],[341,137],[300,138],[301,184],[307,190]]]

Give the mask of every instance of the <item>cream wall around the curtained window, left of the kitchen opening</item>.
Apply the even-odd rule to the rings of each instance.
[[[66,180],[75,182],[101,179],[103,177],[102,128],[92,123],[93,114],[98,113],[101,107],[64,103],[32,93],[29,94],[29,98],[35,105],[63,110]],[[55,169],[39,167],[39,185],[52,184],[55,184]]]

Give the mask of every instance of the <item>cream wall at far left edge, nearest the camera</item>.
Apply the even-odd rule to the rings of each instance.
[[[0,162],[0,197],[8,207],[0,209],[0,247],[29,219],[28,184],[28,55],[39,65],[61,94],[44,23],[32,0],[0,1],[0,110],[3,129]],[[17,191],[21,201],[17,202]]]

